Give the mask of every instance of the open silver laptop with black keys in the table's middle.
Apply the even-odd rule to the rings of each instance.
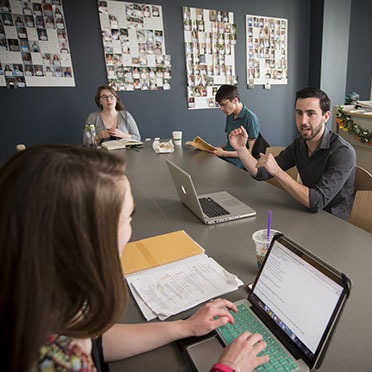
[[[182,203],[204,223],[209,225],[256,215],[255,210],[226,191],[197,195],[191,176],[170,160],[166,162]]]

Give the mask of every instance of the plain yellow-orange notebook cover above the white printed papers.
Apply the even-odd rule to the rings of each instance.
[[[121,255],[121,267],[128,275],[201,253],[204,249],[180,230],[128,243]]]

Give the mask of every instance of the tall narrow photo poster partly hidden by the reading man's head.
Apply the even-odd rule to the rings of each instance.
[[[183,27],[188,108],[216,108],[219,86],[237,84],[234,14],[183,7]]]

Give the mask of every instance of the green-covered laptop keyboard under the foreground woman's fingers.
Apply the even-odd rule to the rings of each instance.
[[[256,319],[250,310],[243,304],[238,305],[238,313],[230,311],[234,317],[234,324],[227,323],[217,329],[219,335],[230,345],[245,330],[251,333],[260,333],[266,342],[266,349],[258,355],[268,355],[270,360],[257,367],[256,371],[294,371],[298,368],[296,362],[289,357],[281,345],[271,336],[266,328]]]

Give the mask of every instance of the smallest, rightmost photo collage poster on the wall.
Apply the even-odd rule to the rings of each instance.
[[[246,15],[247,85],[287,84],[288,20]]]

